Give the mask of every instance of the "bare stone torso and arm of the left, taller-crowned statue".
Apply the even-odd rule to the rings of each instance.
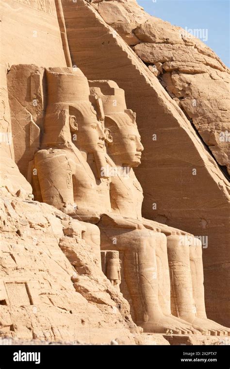
[[[49,171],[47,173],[50,178],[49,185],[57,187],[63,199],[66,191],[73,192],[73,200],[77,205],[76,214],[78,212],[82,214],[83,209],[98,214],[111,210],[109,180],[96,180],[89,164],[78,149],[41,150],[35,156],[38,162],[44,163],[41,170]]]

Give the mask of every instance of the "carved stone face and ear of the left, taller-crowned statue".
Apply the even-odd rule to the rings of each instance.
[[[81,115],[81,117],[78,114],[77,116],[70,116],[70,129],[72,132],[74,127],[77,133],[77,141],[75,143],[80,150],[86,152],[104,151],[105,133],[92,106],[89,106],[87,112]]]

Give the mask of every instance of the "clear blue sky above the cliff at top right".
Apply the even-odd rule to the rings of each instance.
[[[229,0],[137,0],[151,16],[187,29],[203,29],[205,42],[230,67]]]

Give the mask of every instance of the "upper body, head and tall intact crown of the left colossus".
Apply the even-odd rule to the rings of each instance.
[[[103,165],[105,134],[90,97],[87,79],[78,68],[46,71],[48,106],[41,149],[34,155],[32,185],[35,200],[46,202],[84,223],[83,239],[100,263],[101,212],[110,211],[109,180],[95,176],[87,163]],[[78,142],[78,147],[75,142]]]

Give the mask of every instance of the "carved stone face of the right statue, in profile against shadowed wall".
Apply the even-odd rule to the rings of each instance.
[[[116,114],[113,115],[114,121]],[[109,154],[113,156],[115,164],[137,167],[141,163],[141,153],[144,150],[140,134],[127,113],[119,113],[119,118],[122,118],[122,125],[113,124],[109,127],[113,136],[113,142],[108,143]]]

